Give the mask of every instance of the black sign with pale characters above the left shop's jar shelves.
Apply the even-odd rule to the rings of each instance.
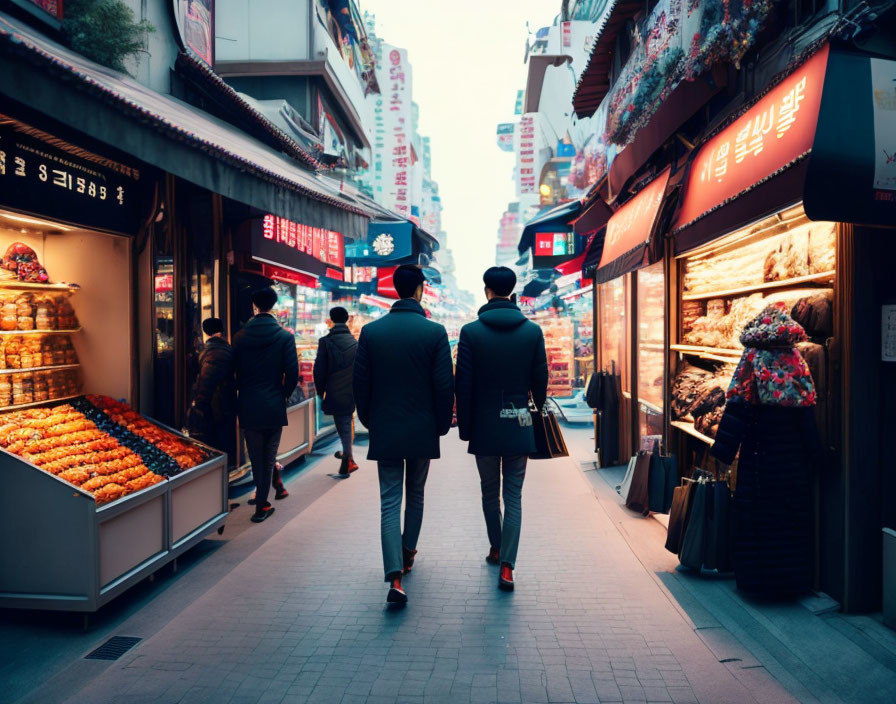
[[[0,126],[0,206],[133,235],[148,215],[146,181],[140,169]]]

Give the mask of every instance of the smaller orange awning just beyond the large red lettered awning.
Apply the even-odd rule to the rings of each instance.
[[[613,213],[607,223],[600,264],[594,274],[605,283],[650,264],[657,215],[666,196],[671,168],[667,168],[636,196]]]

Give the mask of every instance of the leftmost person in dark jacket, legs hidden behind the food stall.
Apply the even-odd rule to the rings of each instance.
[[[220,318],[206,318],[202,331],[208,336],[199,355],[199,374],[193,384],[193,401],[187,413],[190,436],[236,461],[236,379],[233,349],[224,339]]]

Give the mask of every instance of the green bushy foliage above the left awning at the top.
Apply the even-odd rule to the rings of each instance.
[[[121,0],[66,0],[62,34],[69,47],[88,59],[126,71],[125,61],[146,49],[155,32],[148,21],[137,22]]]

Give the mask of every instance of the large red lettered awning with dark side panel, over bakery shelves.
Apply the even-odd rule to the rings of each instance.
[[[896,222],[896,62],[823,46],[694,156],[680,254],[803,202],[811,220]]]

